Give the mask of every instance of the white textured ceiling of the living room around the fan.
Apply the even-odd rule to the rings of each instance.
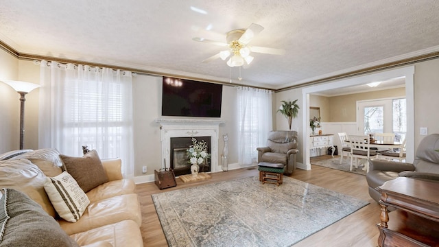
[[[0,40],[21,54],[55,56],[157,73],[236,82],[239,69],[202,60],[226,33],[265,29],[250,45],[241,84],[281,89],[439,50],[439,1],[10,1],[0,0]],[[206,11],[200,14],[195,7]],[[210,30],[206,30],[211,27]]]

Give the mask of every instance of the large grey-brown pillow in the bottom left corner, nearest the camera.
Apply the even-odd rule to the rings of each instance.
[[[54,217],[15,189],[2,189],[0,199],[0,246],[78,246]]]

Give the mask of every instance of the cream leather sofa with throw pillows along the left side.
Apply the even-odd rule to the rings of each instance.
[[[1,158],[7,159],[1,161]],[[44,180],[54,176],[60,167],[54,154],[40,155],[38,150],[18,156],[0,154],[0,188],[27,194],[55,217],[60,228],[80,246],[143,246],[139,228],[141,208],[134,182],[122,177],[120,159],[104,160],[102,165],[108,182],[86,193],[91,203],[74,223],[56,214],[45,193]]]

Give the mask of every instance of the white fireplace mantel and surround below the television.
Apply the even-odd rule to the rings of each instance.
[[[171,138],[173,137],[211,137],[211,172],[219,172],[218,132],[220,119],[156,119],[160,124],[162,143],[162,168],[171,166]]]

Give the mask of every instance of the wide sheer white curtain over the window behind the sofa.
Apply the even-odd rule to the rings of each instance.
[[[134,176],[132,75],[130,71],[41,61],[39,148],[82,156],[121,158],[122,174]]]

